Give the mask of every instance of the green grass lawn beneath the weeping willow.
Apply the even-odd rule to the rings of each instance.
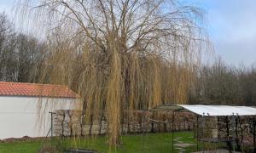
[[[184,148],[185,152],[196,150],[196,140],[192,132],[177,132],[174,135],[177,143],[195,144]],[[139,135],[125,135],[121,138],[122,143],[118,148],[109,150],[107,137],[86,139],[55,139],[47,141],[46,145],[54,144],[58,148],[79,148],[98,150],[98,152],[172,152],[172,133],[146,133]],[[34,153],[40,149],[41,140],[0,143],[0,152],[4,153]],[[201,147],[201,146],[200,146]],[[178,148],[175,146],[175,148]],[[174,149],[178,152],[177,149]]]

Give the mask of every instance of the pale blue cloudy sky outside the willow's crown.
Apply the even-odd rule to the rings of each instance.
[[[231,65],[256,64],[256,0],[183,0],[204,8],[215,54]],[[0,0],[11,14],[15,0]],[[11,15],[10,15],[11,16]]]

